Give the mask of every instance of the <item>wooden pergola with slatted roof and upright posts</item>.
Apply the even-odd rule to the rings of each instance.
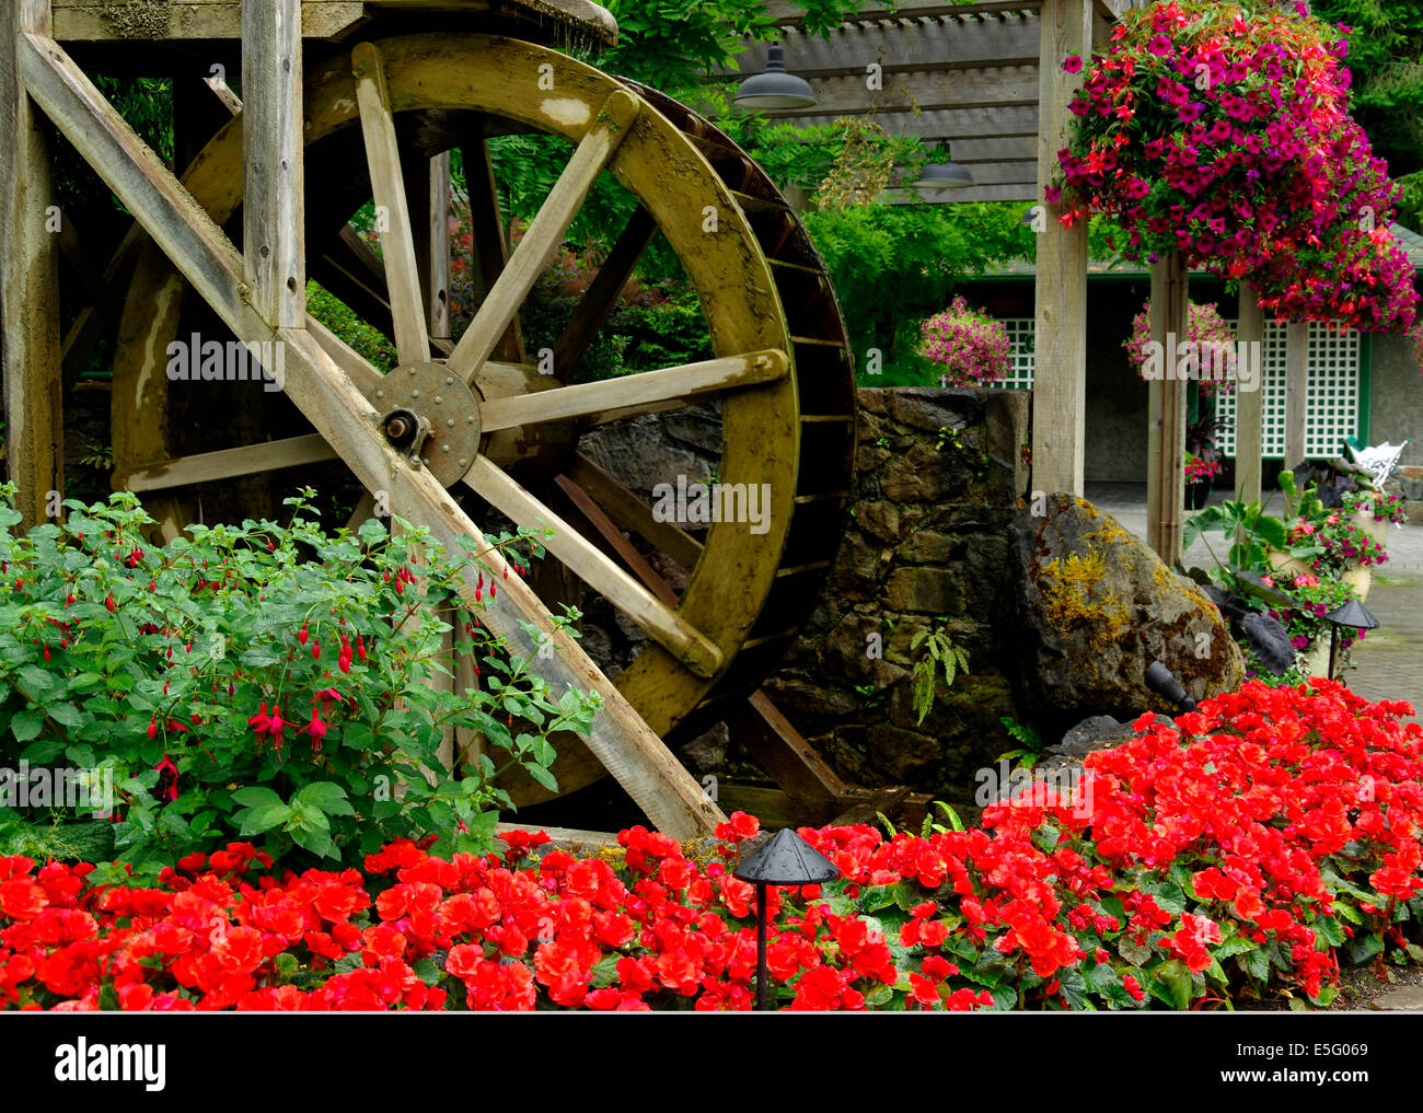
[[[889,191],[889,204],[1023,201],[1044,208],[1037,223],[1036,381],[1033,391],[1033,484],[1042,491],[1083,491],[1086,437],[1087,229],[1063,228],[1043,186],[1057,167],[1072,121],[1069,102],[1080,77],[1062,63],[1087,57],[1107,41],[1111,24],[1150,0],[990,0],[945,4],[904,0],[871,6],[828,36],[804,30],[804,16],[770,0],[785,67],[805,78],[817,98],[807,110],[778,112],[793,124],[825,124],[871,115],[891,135],[946,142],[973,185],[919,194]],[[739,56],[740,70],[717,81],[740,81],[766,68],[764,44]],[[1155,339],[1185,337],[1185,272],[1178,259],[1153,268]],[[1308,326],[1288,337],[1286,464],[1303,458]],[[1239,340],[1262,340],[1264,317],[1242,285]],[[1168,562],[1180,555],[1185,495],[1185,383],[1150,384],[1148,515],[1151,545]],[[1259,497],[1262,410],[1259,393],[1242,394],[1238,410],[1237,478],[1242,497]]]

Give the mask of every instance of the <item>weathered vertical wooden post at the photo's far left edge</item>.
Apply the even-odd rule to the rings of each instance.
[[[16,510],[23,528],[55,510],[64,491],[60,400],[60,211],[41,115],[20,80],[16,36],[50,34],[48,0],[9,0],[0,9],[0,250],[3,250],[4,421]]]

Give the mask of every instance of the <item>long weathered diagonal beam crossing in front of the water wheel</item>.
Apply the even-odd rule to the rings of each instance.
[[[243,340],[285,344],[287,397],[366,490],[388,491],[391,504],[404,507],[404,517],[425,525],[448,552],[460,552],[465,541],[472,542],[484,565],[502,578],[508,566],[504,556],[490,547],[438,480],[411,465],[376,434],[380,414],[312,333],[273,330],[256,312],[242,282],[242,256],[60,44],[23,34],[18,53],[21,74],[36,101],[223,323]],[[458,591],[470,606],[480,608],[472,584],[461,584]],[[521,578],[504,581],[498,598],[481,609],[480,621],[504,639],[511,653],[536,659],[534,669],[548,680],[555,699],[571,687],[602,697],[583,740],[659,830],[675,838],[696,838],[726,820],[618,687],[572,638],[554,628],[546,609]],[[551,659],[536,653],[545,638],[555,649]]]

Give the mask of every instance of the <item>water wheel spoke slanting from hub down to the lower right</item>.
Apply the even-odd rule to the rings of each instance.
[[[562,561],[569,571],[622,611],[693,673],[703,677],[716,675],[721,665],[721,650],[710,639],[504,471],[487,458],[478,457],[465,473],[464,482],[512,521],[525,527],[539,524],[549,527],[554,535],[541,544],[552,556]]]

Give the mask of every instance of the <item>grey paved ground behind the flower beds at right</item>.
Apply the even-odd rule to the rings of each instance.
[[[1143,482],[1090,482],[1086,495],[1111,514],[1123,528],[1146,537],[1147,494]],[[1225,497],[1217,491],[1215,502]],[[1281,495],[1268,508],[1282,512]],[[1220,534],[1210,539],[1225,558]],[[1385,542],[1389,561],[1373,574],[1365,605],[1379,619],[1379,629],[1353,650],[1353,668],[1340,679],[1365,699],[1406,699],[1423,712],[1423,525],[1389,527]],[[1187,568],[1210,568],[1214,562],[1202,541],[1185,552]]]

